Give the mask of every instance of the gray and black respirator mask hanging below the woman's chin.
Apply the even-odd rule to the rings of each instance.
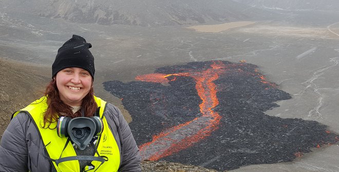
[[[79,149],[84,150],[94,136],[99,136],[103,131],[100,117],[60,117],[56,131],[59,137],[69,137]]]

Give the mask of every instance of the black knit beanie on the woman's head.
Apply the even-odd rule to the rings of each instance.
[[[94,57],[88,50],[92,45],[86,42],[85,38],[73,35],[65,44],[59,48],[52,65],[52,78],[59,71],[65,68],[82,68],[89,72],[94,79],[96,72],[94,67]]]

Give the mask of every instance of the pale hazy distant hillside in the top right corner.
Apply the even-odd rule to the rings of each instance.
[[[337,0],[233,0],[261,9],[283,9],[295,11],[339,11]]]

